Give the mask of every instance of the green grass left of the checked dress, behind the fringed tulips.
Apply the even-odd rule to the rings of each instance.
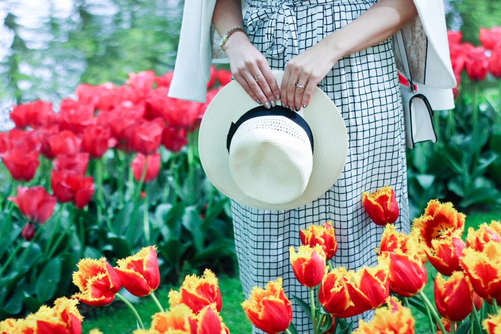
[[[220,315],[231,333],[250,333],[252,326],[243,312],[240,303],[244,300],[240,280],[238,277],[218,275],[221,290],[222,308]],[[179,289],[179,286],[162,286],[155,291],[160,304],[164,309],[169,306],[168,293],[170,289]],[[151,297],[138,298],[134,304],[145,327],[149,327],[151,315],[159,309]],[[98,328],[104,334],[129,334],[136,328],[134,315],[129,308],[116,299],[111,305],[91,309],[92,314],[86,315],[82,323],[83,333],[88,333],[92,328]]]

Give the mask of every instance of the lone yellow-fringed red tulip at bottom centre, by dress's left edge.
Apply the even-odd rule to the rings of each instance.
[[[292,321],[291,301],[282,288],[282,277],[268,282],[265,289],[255,286],[241,305],[250,322],[269,334],[285,331]]]

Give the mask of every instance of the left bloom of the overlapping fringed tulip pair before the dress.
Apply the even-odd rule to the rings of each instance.
[[[318,290],[318,299],[325,309],[338,318],[346,318],[357,315],[365,311],[355,306],[348,293],[345,276],[345,267],[336,267],[328,271],[325,268],[325,275]]]

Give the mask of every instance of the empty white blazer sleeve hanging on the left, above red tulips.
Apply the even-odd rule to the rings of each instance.
[[[206,102],[212,60],[212,14],[216,0],[185,0],[168,97]]]

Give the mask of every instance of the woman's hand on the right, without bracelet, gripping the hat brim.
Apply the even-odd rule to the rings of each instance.
[[[282,105],[299,111],[310,103],[315,87],[334,67],[340,57],[322,40],[287,62],[280,100]],[[305,88],[296,87],[296,83]]]

